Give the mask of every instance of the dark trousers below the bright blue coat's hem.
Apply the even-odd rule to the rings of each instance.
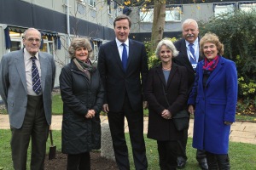
[[[207,164],[210,170],[230,170],[228,154],[212,154],[207,152]]]

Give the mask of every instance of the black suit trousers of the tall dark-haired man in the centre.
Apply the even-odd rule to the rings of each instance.
[[[125,117],[129,127],[134,165],[136,169],[147,169],[148,161],[143,136],[143,104],[141,111],[132,111],[127,96],[125,97],[123,111],[108,112],[108,123],[117,165],[121,170],[130,169],[128,148],[125,140]]]

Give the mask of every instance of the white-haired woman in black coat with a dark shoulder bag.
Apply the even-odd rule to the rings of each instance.
[[[178,52],[172,41],[163,39],[156,48],[160,65],[150,69],[146,88],[148,138],[157,140],[160,169],[177,168],[177,131],[172,116],[186,108],[188,78],[186,68],[172,63]]]

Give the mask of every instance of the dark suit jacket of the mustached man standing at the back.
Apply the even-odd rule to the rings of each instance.
[[[177,65],[182,65],[187,68],[188,71],[188,78],[189,78],[189,92],[194,84],[195,80],[195,70],[193,69],[192,65],[190,64],[189,57],[187,54],[187,47],[186,47],[186,40],[184,38],[178,40],[177,42],[174,42],[175,47],[177,48],[177,51],[179,51],[177,57],[173,59],[173,62],[175,62]],[[198,42],[200,42],[200,38],[198,39]],[[199,44],[198,44],[199,45]],[[203,57],[199,55],[198,62],[201,61]]]

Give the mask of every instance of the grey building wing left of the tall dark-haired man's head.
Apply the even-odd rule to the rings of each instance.
[[[23,47],[23,32],[37,28],[42,35],[41,51],[54,55],[55,86],[66,65],[67,48],[73,37],[88,37],[95,56],[102,42],[114,37],[113,20],[123,6],[110,0],[0,0],[0,59]]]

